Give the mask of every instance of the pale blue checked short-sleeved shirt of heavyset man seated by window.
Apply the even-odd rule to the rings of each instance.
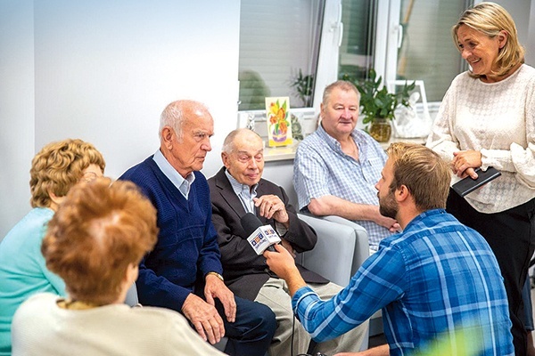
[[[358,160],[346,155],[340,142],[321,125],[300,142],[293,162],[293,186],[300,209],[308,206],[311,198],[325,195],[358,204],[379,205],[375,183],[381,178],[386,154],[379,143],[362,130],[354,130],[351,137],[358,146]],[[366,229],[373,250],[377,250],[382,239],[391,236],[388,229],[374,222],[355,222]]]

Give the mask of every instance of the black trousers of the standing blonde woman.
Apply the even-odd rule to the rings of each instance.
[[[527,334],[523,326],[522,289],[535,249],[535,199],[495,214],[482,214],[465,198],[449,190],[446,210],[466,226],[481,233],[496,255],[504,278],[509,317],[513,323],[514,354],[525,355]]]

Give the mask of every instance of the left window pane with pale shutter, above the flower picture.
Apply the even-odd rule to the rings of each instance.
[[[239,110],[265,109],[266,96],[312,106],[324,10],[325,0],[242,0]]]

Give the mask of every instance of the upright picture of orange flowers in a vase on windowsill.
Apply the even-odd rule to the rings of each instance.
[[[290,122],[290,98],[266,98],[266,117],[268,125],[268,146],[287,146],[292,144],[292,124]]]

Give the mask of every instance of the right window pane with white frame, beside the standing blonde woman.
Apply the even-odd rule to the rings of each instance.
[[[391,1],[387,80],[423,80],[428,101],[441,101],[451,80],[466,69],[450,29],[472,1]]]

